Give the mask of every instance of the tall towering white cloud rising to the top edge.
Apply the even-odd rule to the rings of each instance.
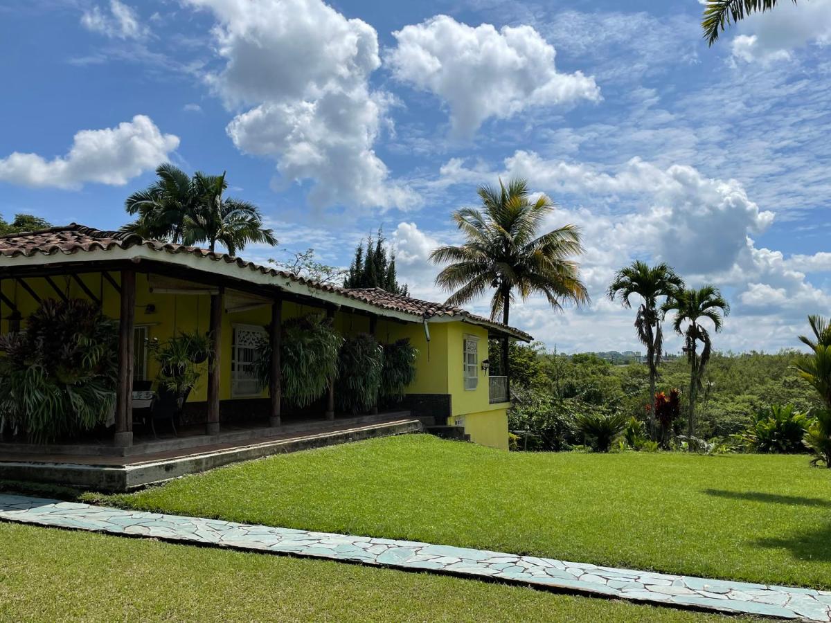
[[[406,208],[416,194],[390,179],[373,145],[393,99],[372,91],[375,30],[320,0],[188,0],[209,8],[225,65],[209,84],[229,107],[239,150],[277,161],[285,184],[312,179],[316,207]]]

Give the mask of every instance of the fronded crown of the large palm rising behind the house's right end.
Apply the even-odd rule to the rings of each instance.
[[[490,317],[502,316],[507,325],[514,292],[525,300],[543,294],[555,310],[572,301],[589,301],[580,279],[578,263],[571,258],[583,253],[580,232],[563,225],[538,235],[543,219],[554,206],[544,194],[532,200],[525,179],[511,179],[499,188],[480,186],[482,208],[461,208],[453,213],[456,225],[465,234],[459,247],[445,245],[430,253],[430,261],[450,263],[435,282],[454,291],[450,305],[467,302],[494,289]]]

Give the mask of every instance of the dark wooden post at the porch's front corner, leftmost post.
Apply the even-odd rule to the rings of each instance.
[[[135,324],[135,272],[121,271],[121,312],[118,323],[118,387],[116,437],[120,448],[133,444],[133,351]]]

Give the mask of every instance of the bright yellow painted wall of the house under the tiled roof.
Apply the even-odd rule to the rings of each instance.
[[[111,276],[118,281],[117,272]],[[118,293],[103,281],[98,274],[82,275],[81,278],[87,287],[101,297],[102,307],[107,316],[117,318],[120,310]],[[86,299],[86,294],[69,277],[52,277],[62,292],[69,297]],[[27,278],[42,298],[55,297],[46,280],[42,278]],[[37,303],[19,285],[15,287],[11,280],[2,281],[2,292],[22,312],[25,318],[34,312]],[[135,324],[147,326],[150,340],[164,342],[179,331],[206,332],[209,329],[209,295],[201,294],[160,294],[150,292],[147,276],[136,275],[136,309]],[[147,312],[147,306],[152,304],[155,310]],[[3,306],[2,316],[7,316],[10,310]],[[283,319],[305,316],[309,313],[323,313],[320,307],[301,306],[296,303],[283,304]],[[271,309],[268,306],[258,307],[246,312],[227,313],[223,316],[222,331],[222,370],[220,372],[221,400],[228,400],[231,396],[231,344],[234,324],[268,326],[271,321]],[[369,330],[369,318],[364,315],[349,312],[347,309],[337,312],[335,327],[342,335],[349,336]],[[461,321],[433,322],[429,325],[430,342],[425,336],[424,325],[421,322],[396,322],[379,319],[376,336],[381,342],[396,341],[407,337],[416,347],[416,380],[406,388],[411,394],[450,394],[452,415],[449,423],[455,419],[464,419],[465,430],[471,439],[479,444],[490,445],[496,448],[508,447],[508,424],[505,413],[506,405],[489,404],[489,382],[487,375],[481,370],[481,362],[488,358],[488,332],[480,326],[466,324]],[[0,331],[8,331],[8,322],[0,323]],[[465,390],[463,352],[465,335],[479,338],[479,383],[475,390]],[[139,345],[136,345],[137,347]],[[155,379],[158,374],[158,364],[152,356],[148,356],[147,378]],[[190,402],[207,400],[207,364],[202,365],[202,375],[189,397]],[[263,392],[257,397],[265,397]],[[461,421],[461,420],[460,420]]]

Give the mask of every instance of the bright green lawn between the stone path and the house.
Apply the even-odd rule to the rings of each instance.
[[[98,501],[831,587],[831,470],[810,468],[805,456],[509,454],[406,435],[237,464]]]

